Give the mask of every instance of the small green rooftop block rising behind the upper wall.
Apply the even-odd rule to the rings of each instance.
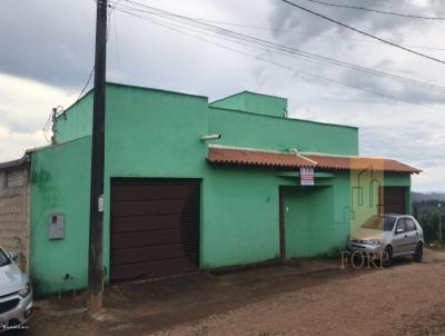
[[[216,100],[210,106],[281,118],[287,113],[286,98],[248,91]]]

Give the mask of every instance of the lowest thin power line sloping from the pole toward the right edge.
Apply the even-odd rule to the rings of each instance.
[[[148,22],[151,22],[151,23],[154,23],[154,24],[161,26],[161,27],[165,27],[165,28],[167,28],[167,29],[174,30],[174,31],[176,31],[176,32],[178,32],[178,33],[192,37],[192,38],[195,38],[195,39],[198,39],[198,40],[201,40],[201,41],[204,41],[204,42],[214,45],[214,46],[216,46],[216,47],[219,47],[219,48],[222,48],[222,49],[233,51],[233,52],[237,52],[237,53],[243,55],[243,56],[247,56],[247,57],[250,57],[250,58],[255,58],[255,59],[257,59],[257,60],[265,61],[265,62],[271,63],[271,65],[274,65],[274,66],[277,66],[277,67],[280,67],[280,68],[285,68],[285,69],[287,69],[287,70],[294,70],[294,71],[296,70],[296,71],[298,71],[299,73],[304,73],[304,75],[307,75],[307,76],[310,76],[310,77],[319,78],[319,79],[323,79],[323,80],[325,80],[325,81],[329,81],[329,82],[334,82],[334,83],[337,83],[337,85],[342,85],[342,86],[349,87],[349,88],[353,88],[353,89],[356,89],[356,90],[365,91],[365,92],[367,92],[367,93],[372,93],[372,95],[375,95],[375,96],[380,96],[380,97],[384,97],[384,98],[388,98],[388,99],[393,99],[393,100],[403,101],[403,102],[405,102],[405,103],[409,103],[409,105],[415,105],[415,106],[419,106],[419,107],[433,109],[433,107],[431,107],[431,106],[425,106],[425,105],[416,103],[416,102],[413,102],[413,101],[409,101],[409,100],[405,100],[405,99],[402,99],[402,98],[393,97],[393,96],[390,96],[390,95],[385,95],[385,93],[380,93],[380,92],[377,92],[377,91],[374,91],[374,90],[359,88],[359,87],[356,87],[356,86],[353,86],[353,85],[349,85],[349,83],[346,83],[346,82],[343,82],[343,81],[338,81],[338,80],[335,80],[335,79],[332,79],[332,78],[328,78],[328,77],[324,77],[324,76],[320,76],[320,75],[316,75],[316,73],[312,73],[312,72],[304,71],[304,70],[300,70],[300,69],[296,69],[296,68],[293,68],[293,67],[289,67],[289,66],[286,66],[286,65],[279,63],[279,62],[270,61],[270,60],[268,60],[268,59],[266,59],[266,58],[263,58],[263,57],[259,57],[259,56],[253,56],[253,55],[247,53],[247,52],[244,52],[244,51],[241,51],[241,50],[238,50],[238,49],[235,49],[235,48],[225,46],[225,45],[216,43],[216,42],[210,41],[210,40],[208,40],[208,39],[205,39],[205,38],[202,38],[202,37],[195,36],[195,34],[185,32],[184,30],[180,30],[180,29],[177,29],[177,28],[175,28],[175,27],[171,27],[171,26],[172,26],[171,23],[165,23],[165,22],[164,22],[164,23],[160,23],[158,20],[154,20],[154,19],[147,18],[147,17],[144,17],[144,16],[138,16],[138,14],[135,14],[135,13],[129,12],[129,11],[127,11],[127,10],[121,10],[121,9],[118,9],[118,10],[120,10],[121,12],[125,12],[125,13],[127,13],[127,14],[130,14],[130,16],[134,16],[134,17],[137,17],[137,18],[140,18],[140,19],[142,19],[142,20],[146,20],[146,21],[148,21]]]

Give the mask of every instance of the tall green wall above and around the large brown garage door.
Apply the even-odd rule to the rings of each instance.
[[[107,86],[103,265],[110,263],[112,178],[198,178],[207,172],[208,101],[162,90]],[[201,214],[206,211],[201,198]],[[206,223],[201,220],[201,227]],[[205,253],[205,251],[202,251]],[[109,274],[109,273],[108,273]]]

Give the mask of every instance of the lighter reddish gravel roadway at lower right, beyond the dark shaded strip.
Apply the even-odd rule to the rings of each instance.
[[[287,293],[157,335],[445,335],[445,264],[435,257]]]

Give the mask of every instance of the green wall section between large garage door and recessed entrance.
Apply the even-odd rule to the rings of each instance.
[[[278,181],[273,171],[211,168],[204,181],[202,267],[278,257]]]

